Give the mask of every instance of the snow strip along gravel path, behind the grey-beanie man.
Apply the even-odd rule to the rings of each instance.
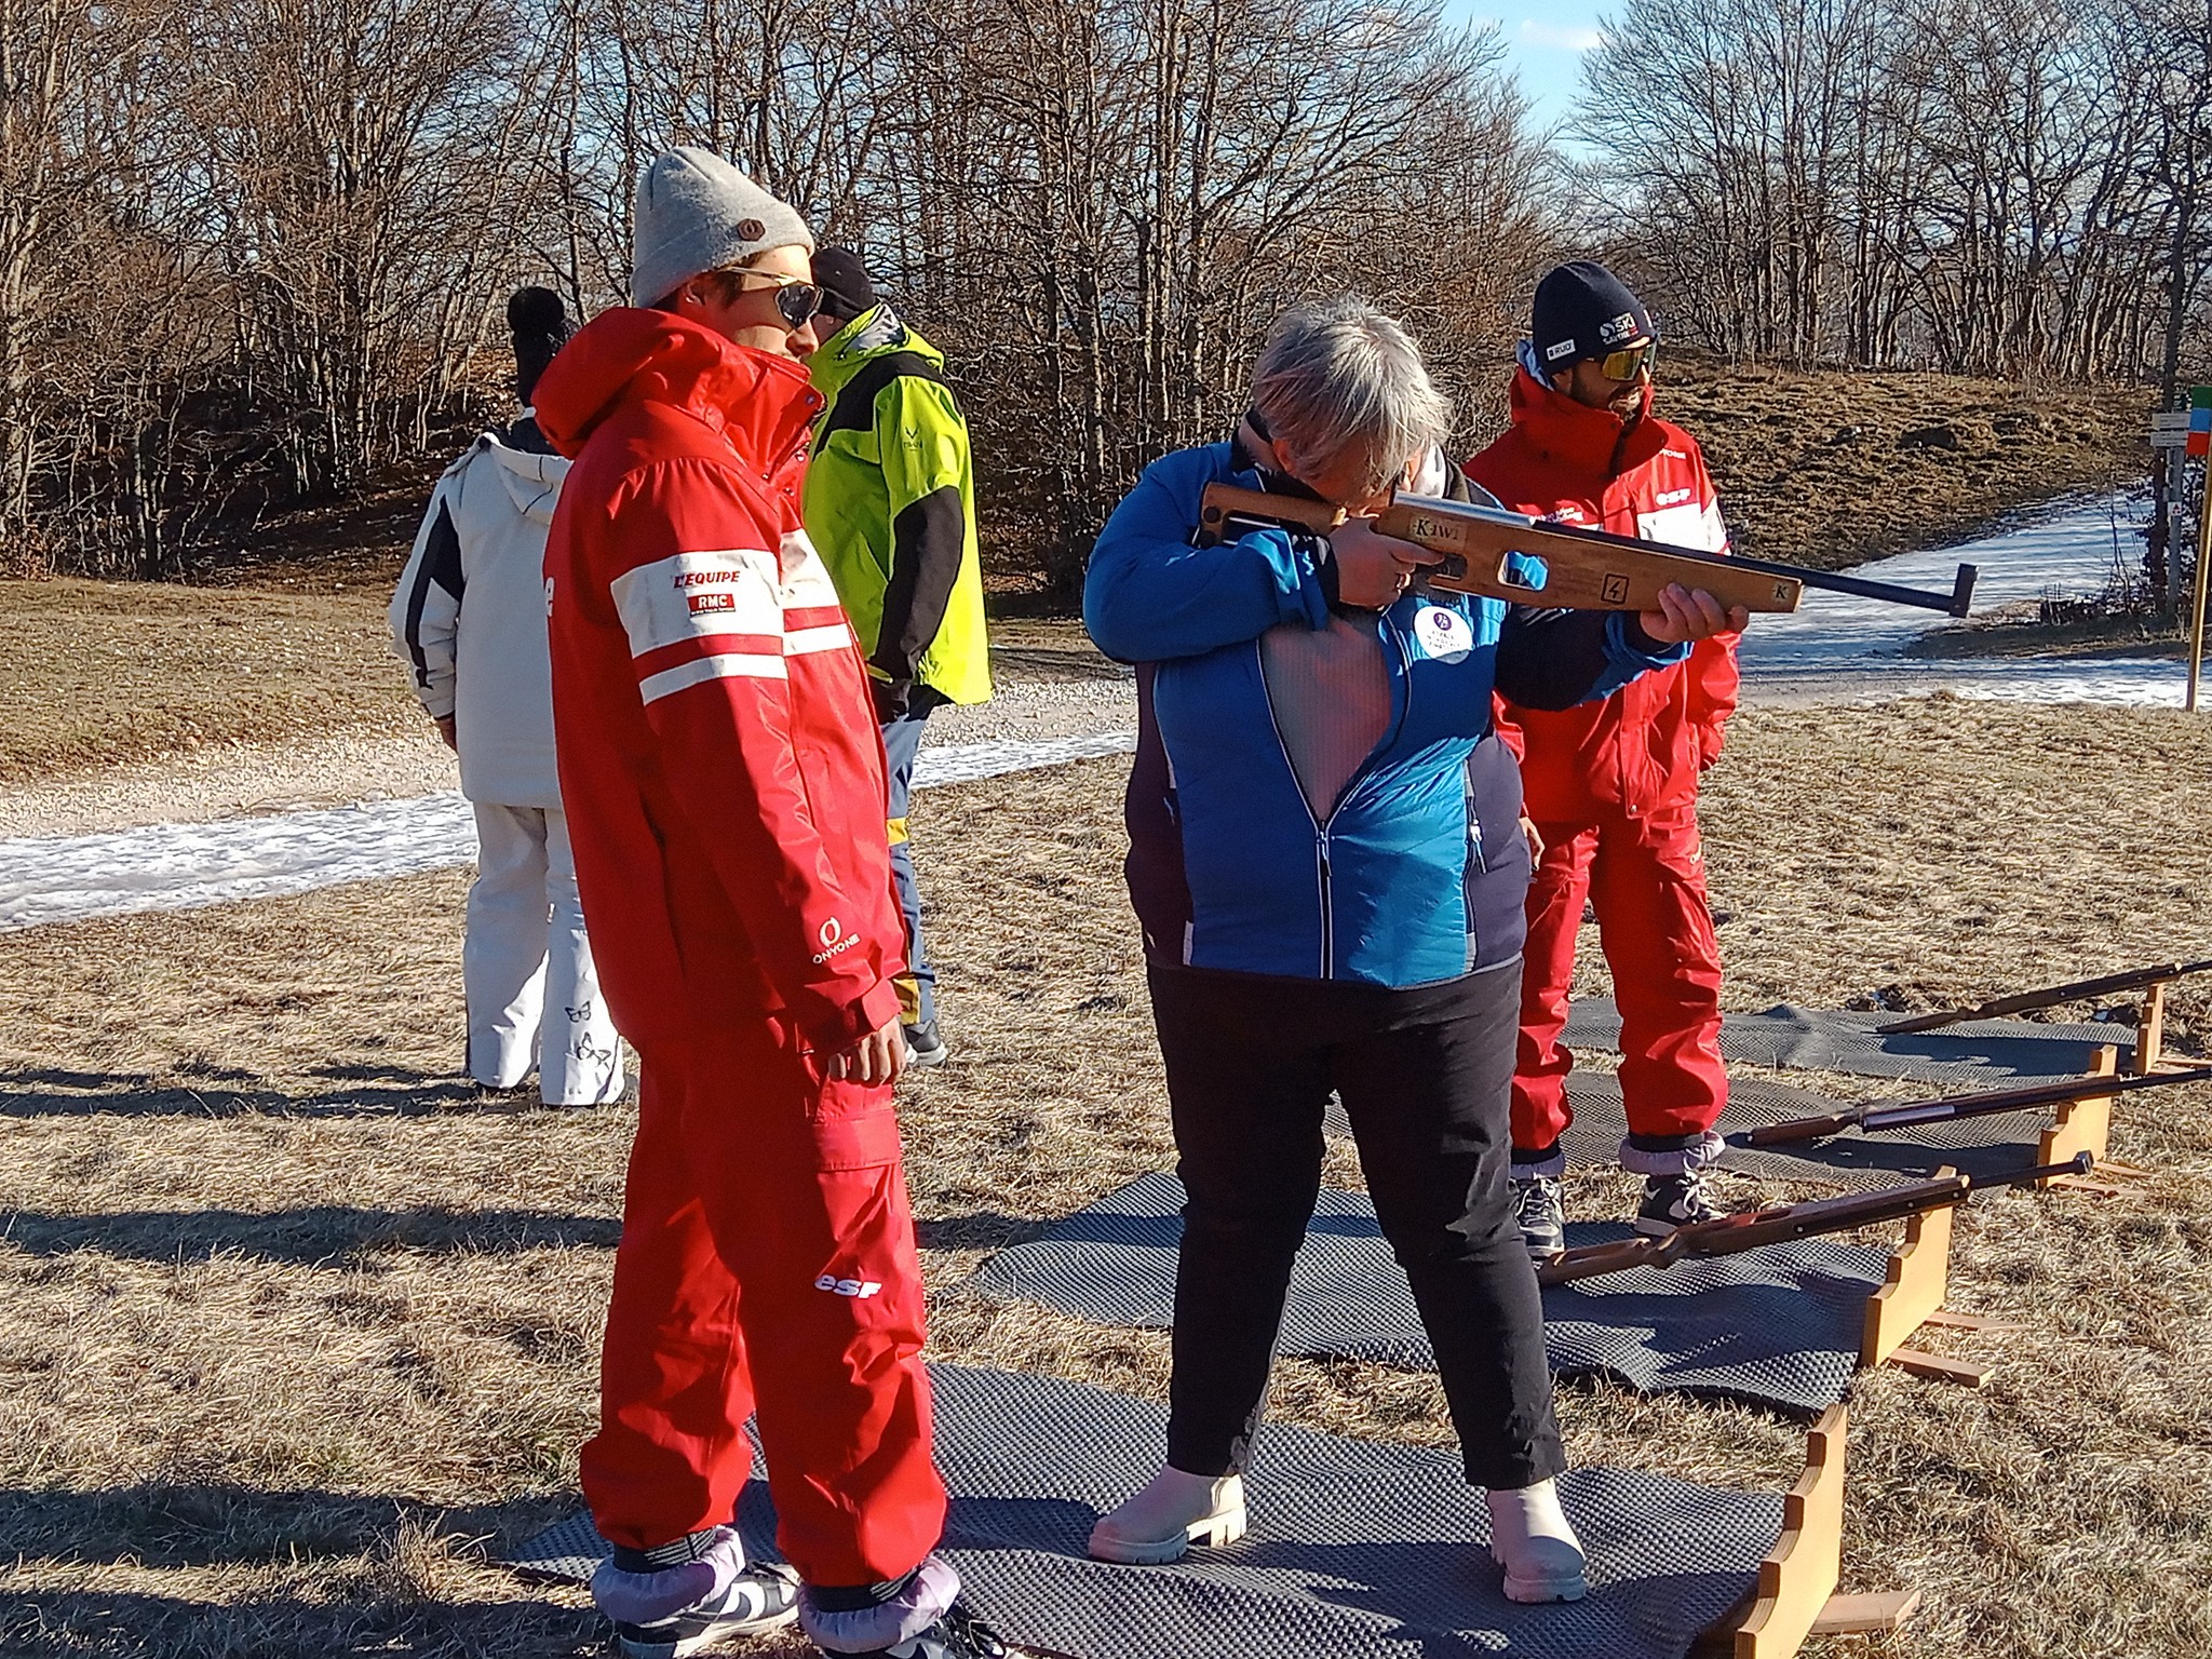
[[[916,787],[971,783],[1137,748],[1133,730],[925,748]],[[445,869],[476,858],[458,792],[93,836],[0,841],[0,931],[144,909],[195,909]]]

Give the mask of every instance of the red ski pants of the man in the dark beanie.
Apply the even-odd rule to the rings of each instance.
[[[1628,1133],[1701,1135],[1728,1104],[1721,1066],[1721,945],[1705,902],[1697,803],[1599,823],[1540,823],[1544,854],[1528,883],[1513,1146],[1544,1150],[1573,1121],[1559,1042],[1575,984],[1584,898],[1621,1009],[1621,1097]]]

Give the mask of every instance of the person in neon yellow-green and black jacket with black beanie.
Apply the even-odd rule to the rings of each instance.
[[[860,635],[883,721],[891,874],[907,918],[900,1018],[914,1062],[936,1066],[949,1051],[922,945],[907,799],[929,710],[991,697],[967,420],[945,385],[945,354],[878,299],[860,254],[816,248],[814,285],[823,345],[807,374],[827,409],[814,427],[805,524]]]

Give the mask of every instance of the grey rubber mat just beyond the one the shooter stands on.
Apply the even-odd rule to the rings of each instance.
[[[1144,1175],[1026,1243],[969,1287],[1097,1325],[1168,1329],[1183,1183]],[[1568,1243],[1615,1243],[1626,1225],[1571,1223]],[[1745,1400],[1816,1418],[1858,1369],[1867,1296],[1889,1256],[1836,1239],[1584,1279],[1544,1290],[1544,1343],[1559,1376],[1610,1376],[1641,1394]],[[1433,1369],[1413,1292],[1363,1192],[1321,1194],[1283,1305],[1279,1352]]]

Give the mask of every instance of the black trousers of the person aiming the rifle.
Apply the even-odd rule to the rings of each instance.
[[[1321,1192],[1321,1113],[1352,1117],[1478,1486],[1559,1473],[1544,1305],[1506,1190],[1520,962],[1389,991],[1152,967],[1183,1206],[1168,1462],[1241,1471],[1290,1267]]]

